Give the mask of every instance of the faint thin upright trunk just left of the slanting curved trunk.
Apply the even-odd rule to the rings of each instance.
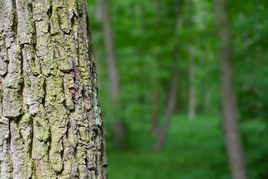
[[[154,1],[154,8],[155,8],[155,26],[156,29],[159,28],[159,11],[160,5],[159,0]],[[158,55],[155,55],[155,69],[158,71]],[[151,124],[151,134],[153,136],[157,136],[158,133],[158,120],[159,120],[159,79],[156,76],[154,78],[153,84],[153,100],[152,100],[152,124]]]

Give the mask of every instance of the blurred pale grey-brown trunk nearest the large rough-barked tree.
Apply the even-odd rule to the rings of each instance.
[[[107,70],[109,75],[109,95],[110,95],[110,106],[113,109],[110,113],[112,122],[112,130],[114,135],[114,143],[118,148],[124,148],[124,140],[126,138],[126,126],[123,120],[118,118],[118,111],[120,106],[119,100],[119,81],[116,66],[115,57],[115,42],[114,33],[111,26],[109,8],[107,0],[100,1],[100,10],[102,17],[102,26],[104,32],[104,43],[105,52],[107,59]]]

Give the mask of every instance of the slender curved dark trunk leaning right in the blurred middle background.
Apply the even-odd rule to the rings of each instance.
[[[177,31],[182,28],[182,0],[178,0],[178,15],[177,15],[177,24],[176,24],[176,34]],[[163,148],[167,130],[169,127],[170,119],[174,113],[177,95],[178,95],[178,80],[179,80],[179,73],[178,73],[178,61],[180,59],[180,46],[179,46],[179,36],[176,35],[176,45],[175,45],[175,52],[174,52],[174,64],[173,64],[173,70],[172,70],[172,84],[170,86],[170,93],[169,93],[169,99],[168,103],[165,109],[164,119],[163,119],[163,125],[161,127],[161,130],[158,135],[157,142],[155,143],[154,149],[155,150],[161,150]]]

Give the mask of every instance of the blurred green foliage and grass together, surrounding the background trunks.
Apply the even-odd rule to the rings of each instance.
[[[120,81],[119,116],[126,119],[129,150],[116,151],[112,144],[109,85],[102,28],[96,20],[96,2],[89,1],[89,17],[98,63],[99,97],[107,129],[110,178],[230,178],[220,121],[201,116],[195,121],[183,115],[173,118],[163,152],[151,150],[149,135],[153,92],[159,89],[162,119],[172,79],[175,46],[180,54],[177,111],[188,108],[189,52],[193,46],[194,82],[198,114],[220,116],[220,59],[215,28],[214,1],[184,0],[182,28],[176,29],[177,0],[110,1]],[[267,176],[268,122],[268,2],[231,1],[235,86],[243,142],[250,178]],[[178,37],[178,38],[177,38]],[[157,85],[155,85],[157,81]],[[265,123],[266,122],[266,123]],[[161,122],[160,122],[161,123]]]

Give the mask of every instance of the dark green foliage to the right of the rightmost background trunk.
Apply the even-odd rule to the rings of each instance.
[[[257,2],[257,1],[256,1]],[[241,119],[268,119],[268,4],[245,1],[232,7],[235,66]],[[237,5],[237,4],[236,4]]]

